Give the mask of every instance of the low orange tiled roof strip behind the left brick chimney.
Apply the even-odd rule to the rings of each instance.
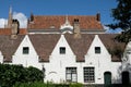
[[[21,28],[19,35],[27,34],[26,28]],[[11,28],[0,28],[0,35],[11,35]]]

